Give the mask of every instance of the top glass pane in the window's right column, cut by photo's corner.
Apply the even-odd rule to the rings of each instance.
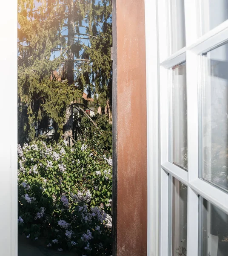
[[[201,0],[201,9],[202,35],[228,19],[227,0]]]

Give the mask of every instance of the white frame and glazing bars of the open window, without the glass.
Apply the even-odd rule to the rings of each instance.
[[[228,41],[228,20],[199,37],[198,0],[185,0],[186,46],[171,52],[172,0],[145,0],[148,120],[148,256],[168,256],[168,174],[188,186],[187,256],[198,255],[199,195],[228,214],[228,193],[199,178],[198,84],[202,53]],[[204,1],[204,0],[203,0]],[[206,10],[207,11],[207,10]],[[186,61],[188,172],[168,161],[171,68]],[[158,128],[157,128],[158,125]],[[156,150],[159,151],[157,155]],[[158,222],[158,225],[156,224]],[[159,234],[159,241],[155,237]],[[158,245],[158,247],[157,247]]]

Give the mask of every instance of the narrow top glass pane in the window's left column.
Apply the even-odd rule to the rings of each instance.
[[[185,3],[172,0],[171,3],[171,53],[185,47]]]

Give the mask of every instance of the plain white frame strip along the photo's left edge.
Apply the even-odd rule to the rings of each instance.
[[[17,256],[17,0],[0,2],[0,255]]]

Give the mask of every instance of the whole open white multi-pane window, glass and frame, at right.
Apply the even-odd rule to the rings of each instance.
[[[159,255],[226,256],[228,1],[153,0],[152,32],[147,2],[147,86],[148,93],[151,88],[158,92],[160,134],[160,140],[153,141],[160,148],[159,171],[149,164],[148,177],[159,173]],[[157,43],[150,47],[153,33]],[[155,118],[151,106],[149,124]],[[156,130],[148,129],[148,157],[156,156],[150,150],[152,132]],[[148,219],[151,212],[155,216],[151,196],[148,193]]]

